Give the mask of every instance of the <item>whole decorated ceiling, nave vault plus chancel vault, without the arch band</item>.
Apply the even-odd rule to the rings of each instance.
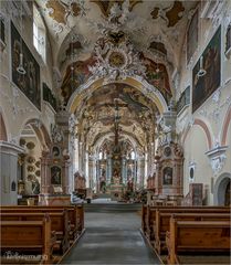
[[[88,149],[113,141],[115,99],[122,139],[147,147],[154,141],[157,106],[132,84],[139,76],[166,103],[175,94],[174,73],[198,1],[36,0],[46,24],[60,95],[67,105],[92,77],[102,86],[85,94],[74,109],[80,140]],[[119,81],[119,82],[118,82]],[[145,150],[143,150],[145,151]]]

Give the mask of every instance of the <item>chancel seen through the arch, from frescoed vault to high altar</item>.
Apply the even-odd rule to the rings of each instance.
[[[97,191],[107,187],[111,192],[113,184],[119,184],[122,192],[128,181],[141,189],[147,179],[145,169],[154,162],[155,128],[160,116],[155,100],[126,83],[83,91],[76,100],[78,106],[72,109],[77,120],[74,162],[86,183]],[[72,108],[75,104],[74,99]],[[88,165],[80,157],[87,157]]]

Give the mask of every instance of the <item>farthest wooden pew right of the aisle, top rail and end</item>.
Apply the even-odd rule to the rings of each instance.
[[[146,214],[146,232],[145,235],[150,244],[155,242],[156,211],[169,213],[187,213],[187,212],[207,212],[207,213],[230,213],[229,206],[149,206]]]

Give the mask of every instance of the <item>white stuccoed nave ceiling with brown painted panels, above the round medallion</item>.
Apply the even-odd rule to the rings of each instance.
[[[161,55],[174,71],[179,66],[187,25],[198,1],[36,0],[36,3],[49,29],[55,64],[63,72],[72,60],[72,49],[78,61],[85,61],[98,39],[108,32],[125,33],[137,51],[154,61],[155,55]]]

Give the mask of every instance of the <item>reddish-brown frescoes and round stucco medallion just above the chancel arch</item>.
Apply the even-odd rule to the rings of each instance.
[[[105,51],[103,43],[101,43],[101,49]],[[94,74],[94,72],[91,73],[91,67],[96,68],[95,70],[96,75],[98,74],[99,77],[103,77],[101,76],[101,74],[106,72],[106,70],[104,68],[102,70],[102,67],[112,68],[113,73],[115,72],[115,70],[118,68],[119,71],[115,72],[117,75],[119,74],[119,72],[122,72],[123,74],[125,73],[124,64],[126,63],[125,61],[127,60],[126,55],[124,55],[124,53],[120,52],[119,49],[117,47],[115,49],[114,52],[112,51],[113,49],[111,46],[111,50],[102,55],[102,61],[103,60],[106,61],[104,62],[103,65],[98,63],[96,56],[92,56],[85,62],[77,61],[67,66],[63,84],[61,87],[62,96],[64,97],[65,104],[67,104],[73,92],[77,89],[81,85],[86,83],[86,81],[90,77],[92,77],[92,74]],[[138,56],[141,60],[140,62],[145,67],[144,77],[147,80],[149,84],[158,88],[159,92],[162,94],[164,98],[166,99],[166,102],[169,103],[172,93],[166,66],[160,63],[155,63],[153,60],[145,57],[141,53]],[[107,66],[107,64],[109,64],[109,66]],[[134,63],[130,65],[132,70],[134,70],[135,67]],[[137,65],[138,67],[140,66],[138,63]],[[101,73],[97,73],[97,71],[101,71]]]

